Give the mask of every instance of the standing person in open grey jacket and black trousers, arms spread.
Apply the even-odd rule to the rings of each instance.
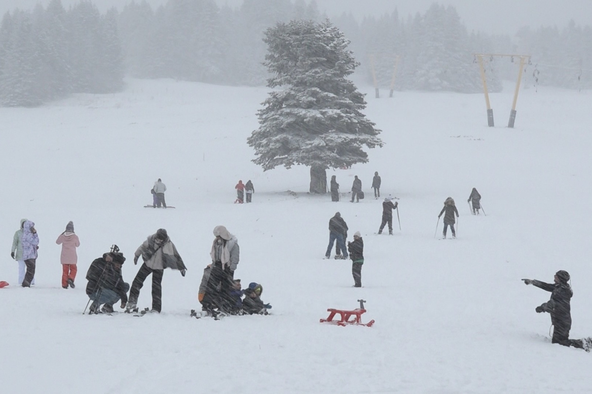
[[[130,301],[127,303],[127,310],[137,308],[140,289],[144,285],[147,276],[152,273],[152,311],[160,313],[162,307],[162,275],[165,268],[181,271],[182,276],[185,276],[187,268],[165,229],[158,229],[155,234],[150,235],[139,246],[136,253],[134,253],[134,265],[137,265],[140,256],[142,256],[144,263],[131,283]]]

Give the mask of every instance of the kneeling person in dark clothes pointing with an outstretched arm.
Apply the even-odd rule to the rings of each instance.
[[[571,307],[570,299],[574,292],[571,290],[570,274],[567,271],[559,270],[555,273],[554,283],[549,284],[536,279],[522,279],[526,285],[534,285],[545,291],[551,292],[551,299],[535,308],[537,313],[548,312],[551,314],[553,324],[553,338],[551,343],[558,343],[563,346],[573,346],[585,351],[590,351],[592,340],[590,338],[570,339],[571,330]]]

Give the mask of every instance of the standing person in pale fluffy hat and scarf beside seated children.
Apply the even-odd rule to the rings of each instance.
[[[213,233],[214,241],[210,250],[212,263],[206,290],[208,296],[211,295],[208,307],[229,312],[233,304],[230,291],[234,271],[240,259],[239,242],[224,226],[215,226]]]

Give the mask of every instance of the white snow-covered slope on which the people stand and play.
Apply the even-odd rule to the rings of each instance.
[[[505,127],[513,89],[482,95],[368,94],[366,114],[385,146],[336,174],[358,175],[359,204],[309,196],[308,168],[262,172],[246,138],[266,89],[131,80],[117,95],[80,95],[36,109],[0,108],[4,185],[0,239],[2,392],[26,393],[582,393],[592,363],[552,345],[549,294],[520,278],[572,275],[571,336],[592,335],[589,220],[592,92],[523,90],[516,128]],[[388,92],[382,92],[383,94]],[[400,198],[402,231],[377,236],[382,195]],[[176,209],[144,209],[156,178]],[[251,179],[253,204],[235,205]],[[472,187],[487,216],[469,215]],[[288,193],[295,191],[295,196]],[[436,240],[446,197],[461,214],[457,240]],[[325,261],[327,223],[340,211],[365,242],[363,288],[349,261]],[[37,285],[15,286],[9,257],[19,221],[40,236]],[[60,287],[54,240],[73,220],[81,239],[76,289]],[[241,247],[236,277],[260,282],[268,317],[188,317],[209,263],[212,229]],[[188,273],[166,271],[163,312],[82,315],[89,263],[113,243],[137,272],[137,246],[165,227]],[[437,235],[442,232],[440,221]],[[351,240],[351,239],[350,239]],[[367,300],[374,327],[318,323],[327,308]],[[150,284],[140,295],[150,306]]]

